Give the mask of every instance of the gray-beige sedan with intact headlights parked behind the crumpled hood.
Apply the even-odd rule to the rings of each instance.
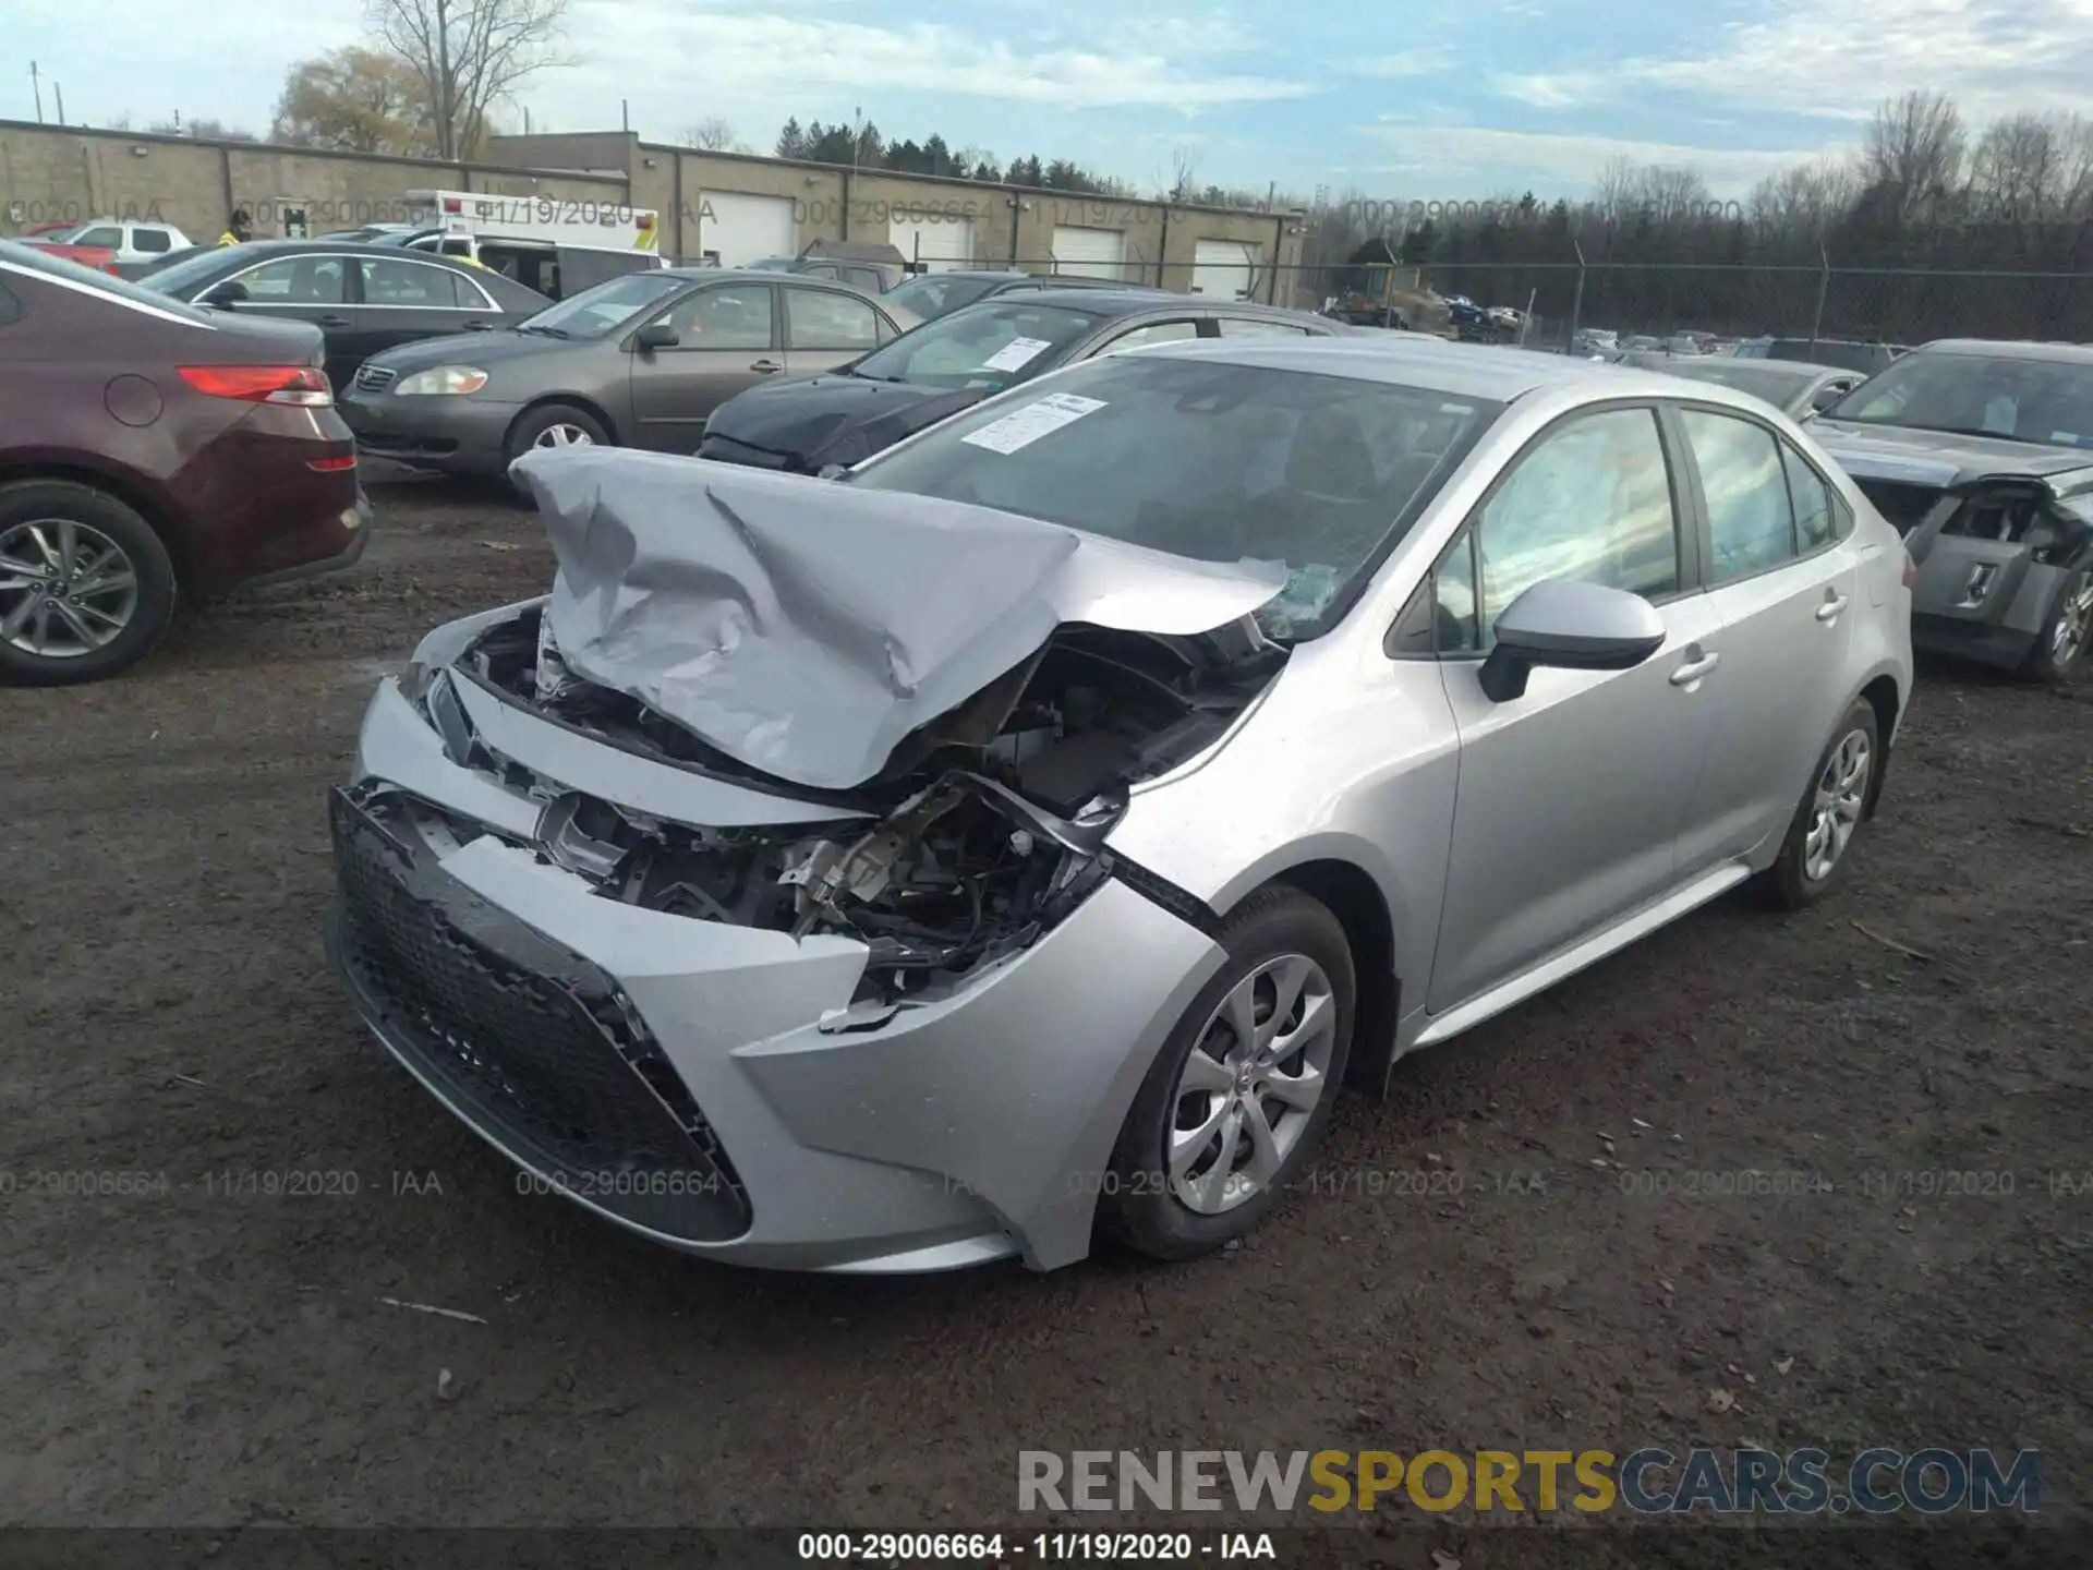
[[[377,354],[337,402],[360,452],[454,475],[507,473],[532,448],[693,452],[737,391],[833,371],[915,324],[825,278],[655,268],[509,331]]]

